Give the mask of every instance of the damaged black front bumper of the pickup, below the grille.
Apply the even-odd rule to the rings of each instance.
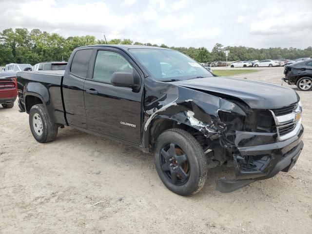
[[[296,163],[303,149],[303,126],[295,136],[276,143],[238,147],[239,155],[234,155],[235,179],[221,178],[217,190],[232,192],[256,180],[268,179],[280,171],[288,172]]]

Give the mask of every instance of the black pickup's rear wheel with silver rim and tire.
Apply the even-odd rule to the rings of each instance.
[[[31,133],[40,143],[50,142],[58,135],[58,125],[50,120],[43,104],[34,105],[29,112]]]

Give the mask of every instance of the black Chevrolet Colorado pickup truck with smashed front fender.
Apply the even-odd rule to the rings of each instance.
[[[135,45],[75,49],[65,71],[19,72],[19,103],[33,136],[71,126],[155,156],[165,186],[197,193],[208,168],[234,167],[231,192],[288,172],[303,148],[301,103],[290,88],[216,77],[174,50]]]

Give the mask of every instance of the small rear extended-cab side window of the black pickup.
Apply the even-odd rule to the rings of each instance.
[[[86,78],[92,49],[78,50],[74,56],[71,73],[78,77]]]

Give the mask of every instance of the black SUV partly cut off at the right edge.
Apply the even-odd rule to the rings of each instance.
[[[286,65],[284,69],[285,78],[290,85],[296,85],[300,91],[312,89],[312,59]]]

